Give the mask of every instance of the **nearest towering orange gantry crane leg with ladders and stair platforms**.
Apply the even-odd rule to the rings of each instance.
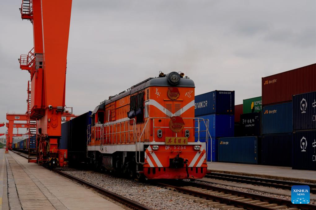
[[[71,0],[22,0],[21,18],[30,20],[34,36],[34,47],[19,59],[20,68],[31,75],[27,87],[27,122],[35,124],[29,135],[36,135],[37,141],[35,145],[29,141],[29,148],[36,148],[29,149],[29,162],[62,165],[58,141],[65,107],[71,3]]]

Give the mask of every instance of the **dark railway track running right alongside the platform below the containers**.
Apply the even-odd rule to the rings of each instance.
[[[233,174],[213,173],[213,172],[205,175],[205,178],[221,179],[221,180],[226,180],[226,181],[231,181],[231,182],[261,185],[261,186],[274,187],[274,188],[279,188],[279,189],[284,189],[284,190],[291,190],[291,187],[293,185],[302,185],[302,183],[298,183],[298,182],[239,176],[239,175],[233,175]],[[316,194],[316,184],[308,184],[308,186],[310,187],[310,193]]]

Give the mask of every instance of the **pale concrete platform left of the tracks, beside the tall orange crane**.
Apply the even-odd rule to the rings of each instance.
[[[0,181],[8,185],[1,184],[0,192],[8,197],[3,196],[1,209],[123,209],[59,174],[27,163],[13,152],[4,155],[0,149],[0,168],[4,167],[0,176],[7,175],[7,179]]]

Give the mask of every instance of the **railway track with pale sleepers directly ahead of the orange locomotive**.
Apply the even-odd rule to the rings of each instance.
[[[206,184],[199,184],[188,181],[178,182],[162,182],[156,183],[158,186],[174,190],[179,193],[191,195],[201,198],[197,202],[203,204],[208,203],[211,207],[221,207],[223,209],[229,208],[244,208],[250,210],[264,210],[264,209],[316,209],[316,205],[293,204],[289,200],[280,198],[273,198],[252,193],[240,192],[237,190],[230,190],[221,187],[210,186]],[[228,207],[225,207],[228,206]]]

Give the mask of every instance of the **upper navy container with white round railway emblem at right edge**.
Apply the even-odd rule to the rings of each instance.
[[[316,92],[293,96],[293,130],[316,129]]]

